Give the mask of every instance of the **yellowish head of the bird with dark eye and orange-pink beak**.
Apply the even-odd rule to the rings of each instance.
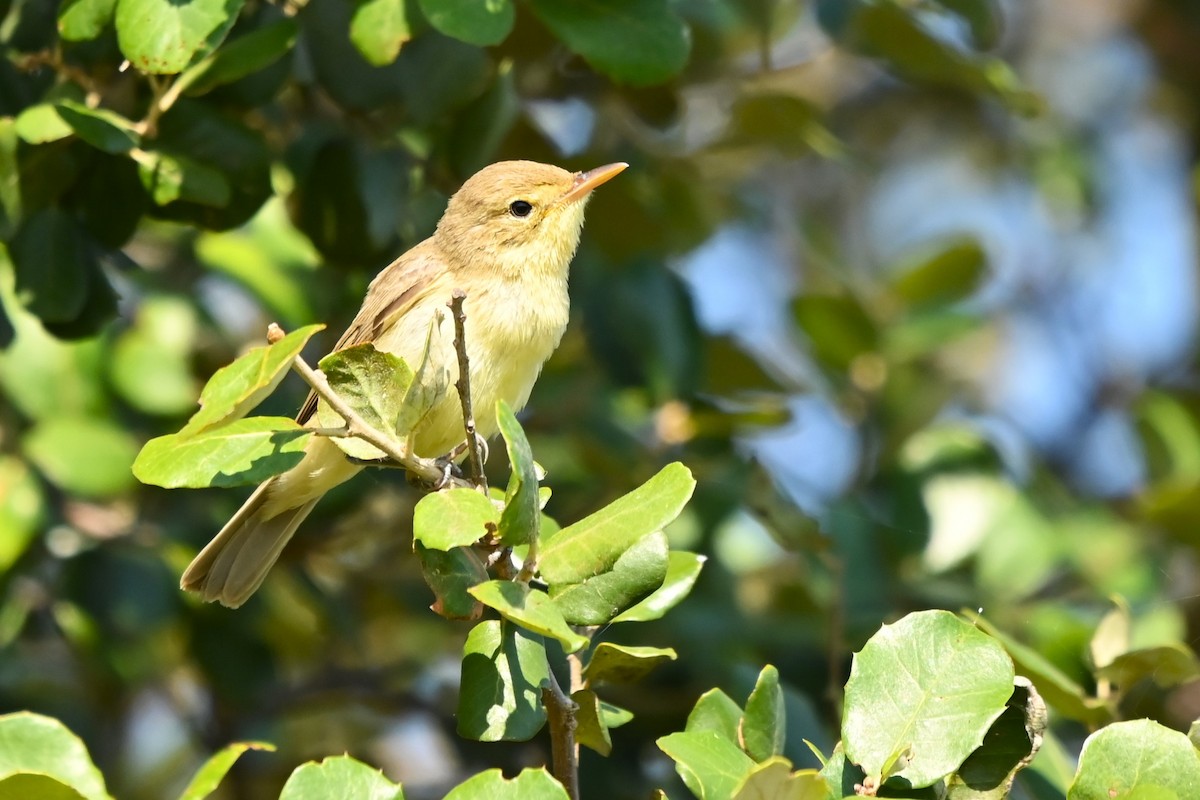
[[[491,164],[450,198],[434,239],[463,266],[565,279],[592,190],[625,167],[569,173],[533,161]]]

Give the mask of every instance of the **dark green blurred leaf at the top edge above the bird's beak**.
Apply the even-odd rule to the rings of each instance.
[[[688,64],[691,35],[666,0],[530,0],[529,7],[568,48],[618,83],[664,83]]]

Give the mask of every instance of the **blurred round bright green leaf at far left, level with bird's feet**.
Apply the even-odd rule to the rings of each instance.
[[[35,425],[22,446],[53,483],[73,494],[110,498],[133,486],[130,465],[138,446],[110,420],[50,417]]]

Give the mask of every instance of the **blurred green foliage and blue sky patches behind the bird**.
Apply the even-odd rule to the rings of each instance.
[[[328,348],[503,158],[631,164],[523,416],[547,511],[682,459],[668,534],[710,555],[632,632],[680,660],[613,692],[637,717],[586,795],[678,786],[654,738],[764,662],[811,764],[850,654],[912,609],[982,609],[1086,691],[1114,596],[1133,643],[1200,636],[1200,4],[486,7],[0,2],[0,710],[62,718],[131,799],[247,738],[280,752],[226,796],[343,751],[415,798],[546,759],[454,735],[468,625],[427,610],[402,480],[337,489],[230,612],[176,581],[242,495],[128,471],[269,321]],[[156,62],[163,8],[227,55],[172,78],[208,50]],[[1186,729],[1200,685],[1166,682],[1114,712]],[[1055,729],[1069,758],[1086,728]]]

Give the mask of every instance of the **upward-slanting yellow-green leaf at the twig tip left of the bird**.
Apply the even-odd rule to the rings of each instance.
[[[275,344],[257,347],[221,367],[200,391],[200,410],[192,415],[181,437],[192,437],[224,422],[240,420],[275,391],[308,339],[324,325],[296,329]]]

